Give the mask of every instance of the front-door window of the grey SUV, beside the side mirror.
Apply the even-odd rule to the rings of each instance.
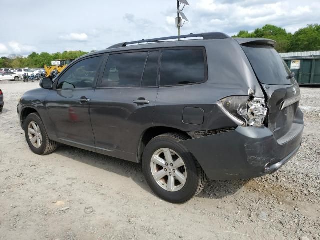
[[[93,87],[100,59],[101,57],[98,56],[75,63],[59,78],[57,88]]]

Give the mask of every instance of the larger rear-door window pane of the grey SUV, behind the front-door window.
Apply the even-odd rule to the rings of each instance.
[[[147,52],[130,52],[109,55],[101,86],[140,86],[147,55]]]

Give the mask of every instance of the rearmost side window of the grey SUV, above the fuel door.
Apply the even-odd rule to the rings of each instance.
[[[179,85],[204,81],[204,55],[201,49],[163,50],[160,85]]]

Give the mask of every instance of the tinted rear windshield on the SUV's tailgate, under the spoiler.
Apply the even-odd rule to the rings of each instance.
[[[271,46],[242,45],[258,80],[263,84],[289,85],[294,78],[280,55]]]

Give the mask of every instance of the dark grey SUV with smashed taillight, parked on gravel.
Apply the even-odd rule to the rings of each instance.
[[[279,169],[300,147],[303,113],[275,42],[179,36],[191,37],[203,39],[119,43],[43,78],[17,106],[31,150],[48,154],[60,142],[142,162],[152,190],[174,203],[201,192],[207,177]]]

